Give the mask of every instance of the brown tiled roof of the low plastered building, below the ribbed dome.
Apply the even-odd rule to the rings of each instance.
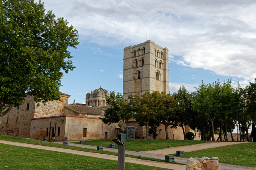
[[[91,106],[65,105],[64,107],[76,114],[104,115],[106,110],[105,108]]]

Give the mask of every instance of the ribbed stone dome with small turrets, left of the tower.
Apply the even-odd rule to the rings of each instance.
[[[106,96],[109,96],[107,90],[104,88],[98,88],[93,90],[91,93],[86,94],[85,104],[86,106],[92,107],[105,107],[106,106]]]

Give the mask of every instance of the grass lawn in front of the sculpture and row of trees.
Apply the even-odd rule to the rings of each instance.
[[[132,151],[144,151],[144,150],[156,150],[170,147],[179,147],[184,145],[194,145],[198,143],[205,143],[205,141],[184,141],[184,140],[166,140],[166,139],[127,139],[122,141],[125,144],[125,150]],[[76,142],[80,144],[80,142]],[[110,148],[110,143],[114,143],[111,139],[84,141],[84,145],[102,146]],[[118,149],[118,145],[113,147]]]

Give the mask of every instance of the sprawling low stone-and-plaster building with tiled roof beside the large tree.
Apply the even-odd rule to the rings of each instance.
[[[51,141],[56,132],[56,141],[113,139],[119,126],[106,125],[99,119],[106,108],[68,105],[70,95],[60,93],[62,101],[46,102],[46,106],[34,102],[27,95],[24,104],[13,107],[2,117],[0,133],[14,137]]]

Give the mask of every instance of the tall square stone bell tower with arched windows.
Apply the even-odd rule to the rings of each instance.
[[[148,40],[124,48],[123,95],[169,92],[168,48]]]

